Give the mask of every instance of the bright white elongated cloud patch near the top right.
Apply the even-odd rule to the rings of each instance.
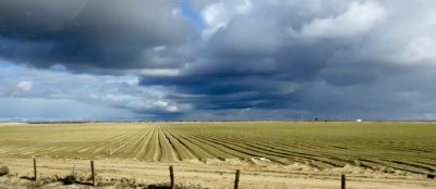
[[[306,23],[301,33],[320,38],[351,37],[368,32],[385,14],[385,9],[375,1],[352,2],[347,12],[338,16],[315,18]]]

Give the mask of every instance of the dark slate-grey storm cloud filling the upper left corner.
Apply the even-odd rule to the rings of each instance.
[[[192,37],[192,25],[178,14],[166,0],[2,1],[0,55],[38,67],[148,67],[154,47]]]

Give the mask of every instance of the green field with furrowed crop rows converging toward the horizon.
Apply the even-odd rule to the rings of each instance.
[[[2,156],[134,159],[173,162],[239,159],[347,164],[409,172],[436,169],[433,123],[197,122],[0,126]]]

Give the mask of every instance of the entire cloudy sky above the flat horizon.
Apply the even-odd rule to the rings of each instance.
[[[0,121],[435,119],[434,0],[0,1]]]

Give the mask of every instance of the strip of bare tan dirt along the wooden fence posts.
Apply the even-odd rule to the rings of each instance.
[[[0,177],[3,188],[92,188],[88,160],[37,160],[39,182],[35,182],[33,161],[0,156],[0,164],[10,168],[8,176]],[[233,188],[235,169],[241,169],[240,188],[340,188],[340,175],[347,175],[347,188],[415,189],[436,188],[436,180],[402,171],[380,167],[378,171],[347,165],[340,168],[317,169],[304,164],[279,165],[268,161],[216,159],[199,162],[140,162],[135,160],[97,160],[98,188],[145,188],[150,185],[168,185],[169,165],[174,166],[175,182],[184,188]],[[63,185],[58,181],[74,173],[78,184]]]

